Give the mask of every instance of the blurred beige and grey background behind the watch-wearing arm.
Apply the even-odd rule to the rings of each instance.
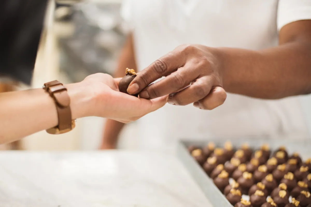
[[[41,88],[52,79],[73,83],[89,74],[112,74],[128,31],[119,13],[121,1],[49,1],[31,87]],[[26,88],[0,79],[0,92]],[[95,150],[100,145],[103,123],[104,119],[98,117],[82,118],[69,133],[53,136],[42,131],[0,145],[0,149]],[[135,148],[134,132],[135,123],[128,124],[123,134],[132,138],[121,138],[120,148]]]

